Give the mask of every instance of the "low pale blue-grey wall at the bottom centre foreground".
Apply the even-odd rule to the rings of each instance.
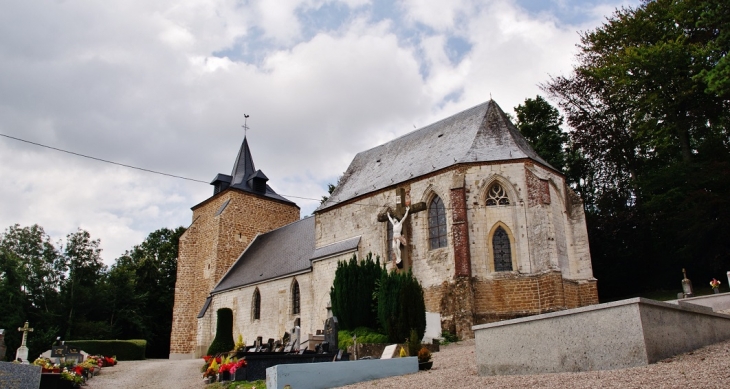
[[[278,365],[266,369],[268,389],[334,388],[418,372],[418,358]]]

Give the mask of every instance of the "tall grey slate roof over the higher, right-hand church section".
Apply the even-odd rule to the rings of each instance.
[[[529,158],[552,169],[489,100],[355,156],[329,199],[343,201],[460,163]]]

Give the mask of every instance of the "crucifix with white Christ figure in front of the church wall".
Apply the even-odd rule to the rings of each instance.
[[[395,189],[395,209],[388,207],[378,215],[378,221],[388,223],[388,261],[393,261],[398,269],[408,270],[411,267],[411,248],[409,244],[411,234],[411,223],[408,218],[414,213],[426,210],[426,203],[419,202],[411,204],[410,190],[406,188]],[[400,261],[398,261],[400,254]]]

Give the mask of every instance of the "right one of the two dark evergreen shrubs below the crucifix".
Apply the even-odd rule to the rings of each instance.
[[[397,273],[383,272],[380,278],[378,296],[378,321],[385,329],[388,339],[401,343],[411,337],[415,329],[418,339],[426,332],[426,303],[423,288],[409,270]]]

